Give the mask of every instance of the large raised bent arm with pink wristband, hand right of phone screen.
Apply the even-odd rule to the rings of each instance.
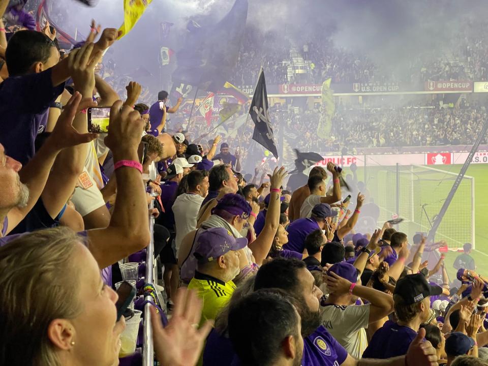
[[[110,110],[110,131],[105,144],[112,150],[114,162],[138,162],[137,148],[144,121],[137,111],[117,101]],[[100,268],[142,250],[149,242],[147,202],[142,175],[136,168],[121,166],[115,170],[117,201],[110,224],[87,232],[89,249]]]

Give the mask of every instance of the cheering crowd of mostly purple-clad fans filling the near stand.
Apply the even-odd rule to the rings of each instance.
[[[245,174],[254,157],[238,140],[167,133],[181,100],[162,90],[147,105],[137,82],[122,96],[96,72],[114,28],[92,27],[64,55],[49,26],[5,36],[0,364],[117,364],[134,312],[117,315],[115,284],[151,239],[167,298],[151,307],[161,365],[488,364],[488,278],[469,243],[450,279],[421,234],[357,232],[365,196],[333,163],[290,192],[276,164]],[[92,132],[97,108],[107,133]],[[453,119],[480,112],[428,113],[452,139]]]

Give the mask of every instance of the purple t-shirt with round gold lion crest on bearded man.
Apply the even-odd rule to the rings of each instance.
[[[347,358],[346,349],[337,342],[323,325],[303,339],[302,366],[339,366]]]

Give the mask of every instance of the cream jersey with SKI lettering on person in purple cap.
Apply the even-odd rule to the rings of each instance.
[[[338,306],[327,305],[321,307],[322,325],[349,352],[359,359],[368,347],[366,331],[370,318],[370,305]]]

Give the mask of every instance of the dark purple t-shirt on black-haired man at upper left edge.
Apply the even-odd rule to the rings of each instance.
[[[10,76],[0,84],[0,143],[6,154],[25,165],[35,153],[34,140],[47,124],[49,105],[65,83],[52,86],[51,69]]]

